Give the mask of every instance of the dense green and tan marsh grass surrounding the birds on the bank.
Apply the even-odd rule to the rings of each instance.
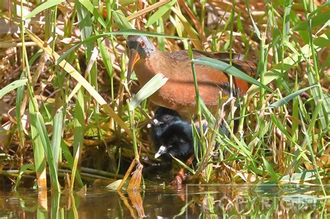
[[[19,79],[22,70],[22,78],[29,80],[25,87],[17,88],[16,97],[15,92],[6,93],[0,103],[3,105],[1,108],[16,106],[16,112],[12,111],[9,119],[3,116],[3,122],[8,122],[10,129],[6,131],[6,140],[0,138],[1,145],[4,145],[1,154],[10,159],[1,161],[4,167],[2,175],[15,180],[22,174],[16,170],[22,165],[34,163],[38,184],[45,189],[47,161],[52,189],[56,190],[56,178],[63,186],[63,163],[72,168],[73,155],[79,148],[77,168],[81,174],[76,174],[79,186],[93,182],[97,177],[115,180],[116,177],[107,172],[124,173],[129,162],[136,157],[136,152],[141,152],[140,158],[148,156],[151,159],[152,150],[145,127],[154,107],[144,101],[134,110],[134,122],[131,122],[134,138],[131,138],[132,130],[127,128],[128,90],[136,91],[137,86],[135,82],[129,85],[125,83],[127,51],[124,49],[124,38],[121,35],[109,35],[106,39],[88,41],[98,33],[124,31],[133,24],[129,21],[134,20],[137,29],[143,29],[143,22],[151,25],[146,29],[151,34],[166,33],[195,39],[190,42],[196,49],[230,51],[233,48],[237,53],[246,54],[246,60],[255,63],[258,60],[256,79],[260,78],[265,85],[272,82],[269,87],[275,93],[251,86],[244,102],[236,104],[240,111],[231,117],[239,121],[237,130],[233,129],[233,120],[225,117],[218,125],[226,127],[227,135],[218,133],[219,129],[212,127],[209,127],[205,137],[198,137],[198,133],[194,133],[196,145],[198,141],[203,145],[202,153],[198,154],[198,160],[203,165],[196,166],[195,178],[215,183],[288,183],[293,180],[290,179],[292,173],[295,173],[300,176],[294,178],[294,183],[319,184],[315,178],[324,177],[330,163],[327,140],[330,104],[329,94],[324,92],[329,87],[329,65],[324,55],[329,50],[329,41],[324,35],[327,29],[321,25],[327,22],[327,16],[324,15],[329,12],[326,8],[316,3],[311,3],[311,8],[308,8],[305,1],[294,3],[293,6],[277,2],[250,3],[246,6],[239,2],[235,3],[236,8],[230,3],[217,1],[207,4],[205,1],[201,4],[178,1],[171,3],[172,8],[160,4],[146,6],[155,10],[154,13],[148,10],[150,8],[144,10],[133,3],[118,8],[115,1],[112,4],[107,1],[104,6],[109,13],[104,13],[102,7],[91,10],[93,6],[88,6],[89,9],[86,9],[87,5],[81,3],[73,5],[63,2],[48,9],[47,4],[44,4],[35,16],[45,16],[45,25],[33,21],[33,29],[31,26],[27,26],[25,32],[22,29],[29,35],[26,39],[24,35],[20,38],[6,35],[6,43],[10,42],[11,45],[9,47],[4,43],[1,50],[2,54],[6,54],[0,61],[4,70],[1,88]],[[22,12],[29,8],[23,3],[22,6]],[[36,5],[32,4],[31,8],[36,8]],[[137,15],[138,12],[141,14]],[[9,14],[8,7],[5,7],[1,15],[15,18],[18,17],[17,13],[13,10]],[[141,20],[141,16],[146,20]],[[84,22],[77,24],[76,17],[79,21],[84,18]],[[202,17],[205,19],[201,20]],[[219,20],[214,17],[219,17]],[[151,24],[150,20],[155,22]],[[15,26],[15,22],[12,24]],[[29,32],[30,29],[32,32]],[[76,34],[79,31],[81,34]],[[36,37],[42,40],[38,41]],[[68,39],[74,40],[74,43],[68,45]],[[82,50],[76,49],[66,56],[65,60],[72,65],[70,67],[67,63],[62,66],[65,70],[72,70],[66,74],[62,67],[50,60],[58,58],[56,53],[63,54],[78,40],[87,41],[84,47],[79,47]],[[167,51],[189,48],[189,42],[186,41],[163,38],[154,41]],[[95,45],[100,49],[100,60],[95,59]],[[13,50],[12,46],[19,47]],[[47,50],[51,58],[37,52],[39,47]],[[76,80],[84,88],[77,85]],[[317,86],[301,90],[314,84]],[[290,96],[299,89],[300,92]],[[28,102],[29,99],[31,102]],[[97,103],[106,113],[100,110]],[[223,103],[221,99],[219,108]],[[267,107],[270,104],[272,107]],[[233,108],[230,104],[226,105],[227,115],[230,114],[230,108]],[[58,109],[60,114],[56,114]],[[203,117],[211,122],[212,119],[205,116],[203,106],[201,111]],[[1,114],[6,112],[1,111]],[[20,117],[23,114],[29,116],[29,125],[24,120],[15,119],[15,115]],[[212,121],[217,119],[221,119],[221,116],[214,116]],[[132,139],[136,139],[136,144]],[[217,159],[211,160],[210,154],[217,154]],[[93,169],[93,172],[86,175],[81,167]],[[302,179],[308,170],[315,168],[320,176],[314,173],[313,179]],[[10,172],[12,170],[15,171]],[[24,170],[25,173],[30,171]],[[26,179],[26,175],[22,177]]]

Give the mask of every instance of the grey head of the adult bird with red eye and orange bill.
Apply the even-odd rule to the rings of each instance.
[[[156,47],[144,35],[129,35],[127,38],[129,49],[129,63],[127,69],[127,81],[134,70],[134,65],[140,58],[148,58],[156,51]]]

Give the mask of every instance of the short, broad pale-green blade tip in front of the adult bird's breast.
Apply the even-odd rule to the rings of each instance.
[[[164,77],[164,74],[158,73],[148,81],[139,92],[133,97],[129,110],[132,111],[136,106],[139,106],[144,99],[150,97],[154,92],[156,92],[159,88],[164,86],[168,79]]]

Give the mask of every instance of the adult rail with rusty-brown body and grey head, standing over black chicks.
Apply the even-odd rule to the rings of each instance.
[[[196,92],[191,70],[191,59],[187,50],[166,53],[159,51],[152,42],[143,35],[129,35],[127,47],[130,58],[127,69],[127,80],[133,70],[144,86],[157,73],[162,73],[168,81],[159,88],[150,100],[158,106],[171,108],[179,113],[194,113],[196,108]],[[193,51],[194,58],[210,57],[229,63],[229,53],[207,53]],[[233,66],[253,76],[256,67],[253,63],[242,60],[239,54],[233,54]],[[223,97],[229,96],[229,75],[220,70],[204,65],[195,65],[199,94],[206,106],[212,109],[217,106],[219,92]],[[233,95],[242,96],[249,88],[249,83],[233,77]]]

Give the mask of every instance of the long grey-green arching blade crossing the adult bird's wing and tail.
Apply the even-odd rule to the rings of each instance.
[[[202,58],[193,59],[192,61],[196,64],[205,65],[205,66],[208,66],[208,67],[213,67],[217,70],[226,72],[228,74],[232,74],[233,76],[235,76],[239,79],[242,79],[246,82],[252,83],[256,86],[264,88],[265,90],[268,90],[269,92],[274,93],[274,91],[272,89],[270,89],[267,86],[263,85],[262,83],[260,83],[260,81],[257,81],[256,79],[253,79],[251,76],[245,74],[244,72],[237,69],[236,67],[234,67],[232,65],[229,65],[228,63],[224,63],[221,60],[216,60],[214,58],[208,58],[208,57],[202,57]]]

